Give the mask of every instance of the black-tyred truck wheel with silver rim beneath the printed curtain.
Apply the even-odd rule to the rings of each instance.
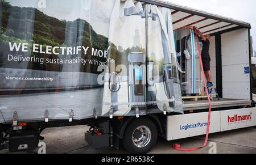
[[[154,122],[147,118],[132,120],[125,130],[123,146],[129,153],[148,153],[158,139],[158,130]]]

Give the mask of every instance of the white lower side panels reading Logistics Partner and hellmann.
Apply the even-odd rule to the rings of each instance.
[[[195,137],[206,134],[208,112],[167,117],[167,140]],[[256,108],[214,111],[210,120],[210,132],[247,128],[256,125]]]

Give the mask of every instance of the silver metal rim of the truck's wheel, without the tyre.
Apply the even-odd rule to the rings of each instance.
[[[146,147],[151,141],[151,130],[147,126],[138,126],[133,132],[133,143],[139,148]]]

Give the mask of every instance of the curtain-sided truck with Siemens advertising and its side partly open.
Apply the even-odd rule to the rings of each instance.
[[[93,149],[148,153],[158,137],[208,124],[256,125],[250,23],[153,0],[1,0],[0,13],[0,149],[34,150],[46,128],[89,125]],[[211,89],[189,26],[211,36]]]

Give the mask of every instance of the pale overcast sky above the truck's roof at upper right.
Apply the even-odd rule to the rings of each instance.
[[[253,48],[256,50],[256,1],[255,0],[166,0],[178,5],[204,10],[213,14],[251,23]]]

